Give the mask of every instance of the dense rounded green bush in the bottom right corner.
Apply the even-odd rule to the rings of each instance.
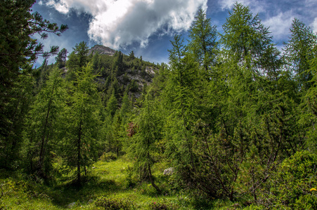
[[[285,159],[276,175],[267,183],[266,206],[277,209],[317,209],[317,158],[309,151],[300,151]],[[265,199],[264,199],[265,200]]]

